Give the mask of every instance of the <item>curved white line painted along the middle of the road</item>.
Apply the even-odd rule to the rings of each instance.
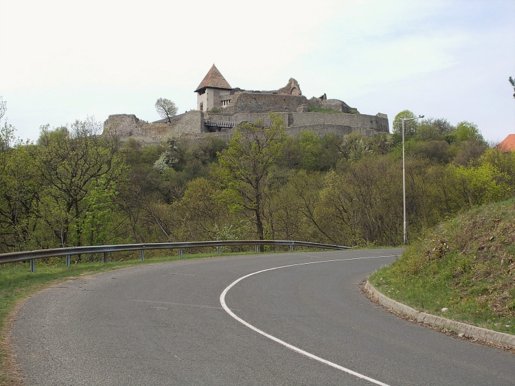
[[[234,319],[236,319],[237,321],[242,323],[244,326],[247,326],[251,330],[253,330],[255,332],[258,332],[258,334],[262,334],[264,337],[267,337],[268,339],[271,339],[271,340],[273,340],[273,341],[275,341],[275,342],[277,342],[279,344],[284,345],[286,348],[289,348],[290,350],[293,350],[295,352],[298,352],[299,354],[308,356],[308,358],[314,359],[315,361],[319,361],[321,363],[325,363],[325,365],[329,365],[331,367],[334,367],[335,369],[338,369],[338,370],[341,370],[343,372],[346,372],[347,374],[351,374],[351,375],[354,375],[354,376],[356,376],[358,378],[364,379],[365,381],[369,381],[369,382],[374,383],[376,385],[389,386],[386,383],[382,383],[380,381],[376,381],[374,378],[370,378],[369,376],[360,374],[358,372],[354,372],[354,371],[352,371],[350,369],[347,369],[347,367],[343,367],[341,365],[336,365],[336,363],[332,363],[332,362],[327,361],[327,360],[325,360],[323,358],[320,358],[320,356],[316,356],[314,354],[311,354],[310,352],[301,350],[300,348],[297,348],[294,345],[290,345],[290,343],[286,343],[285,341],[282,341],[281,339],[273,337],[273,335],[267,334],[266,332],[260,330],[259,328],[252,326],[250,323],[247,323],[247,321],[244,321],[243,319],[241,319],[240,317],[238,317],[235,313],[233,313],[231,311],[231,309],[225,303],[225,295],[227,295],[227,292],[229,292],[229,290],[231,288],[233,288],[233,286],[235,286],[236,284],[241,282],[243,279],[246,279],[247,277],[252,276],[252,275],[257,275],[258,273],[263,273],[263,272],[266,272],[266,271],[273,271],[274,269],[288,268],[289,266],[299,266],[299,265],[307,265],[307,264],[319,264],[321,262],[341,262],[341,261],[345,261],[345,260],[363,260],[363,259],[378,259],[378,258],[393,258],[393,257],[396,257],[396,256],[370,256],[370,257],[367,257],[367,258],[350,258],[350,259],[338,259],[338,260],[325,260],[325,261],[319,261],[319,262],[303,262],[303,263],[300,263],[300,264],[290,264],[290,265],[284,265],[284,266],[276,266],[275,268],[263,269],[262,271],[257,271],[257,272],[254,272],[254,273],[249,273],[249,275],[242,276],[238,280],[235,280],[234,282],[229,284],[229,286],[227,288],[225,288],[225,290],[220,295],[220,304],[222,304],[222,308],[225,310],[226,313],[231,315],[231,317],[233,317]]]

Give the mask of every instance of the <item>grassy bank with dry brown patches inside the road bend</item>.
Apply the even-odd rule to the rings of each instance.
[[[441,223],[369,281],[417,310],[515,334],[515,199]]]

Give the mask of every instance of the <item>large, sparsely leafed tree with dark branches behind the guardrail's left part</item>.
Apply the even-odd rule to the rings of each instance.
[[[85,224],[89,222],[88,231],[93,226],[108,227],[95,218],[105,220],[100,212],[111,205],[112,184],[124,179],[126,164],[117,151],[117,139],[99,135],[100,130],[100,123],[91,118],[70,128],[41,128],[35,165],[45,183],[43,220],[62,247],[98,240],[91,238],[91,232],[84,238]]]

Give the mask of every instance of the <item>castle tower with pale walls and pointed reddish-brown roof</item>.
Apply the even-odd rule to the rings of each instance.
[[[231,90],[232,87],[229,86],[227,80],[213,65],[195,90],[197,93],[196,109],[208,111],[213,107],[223,108],[227,106],[231,102]]]

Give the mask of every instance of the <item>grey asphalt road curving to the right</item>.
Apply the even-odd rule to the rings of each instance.
[[[27,385],[513,386],[513,354],[399,319],[360,292],[399,253],[235,256],[80,277],[27,299],[14,352]]]

